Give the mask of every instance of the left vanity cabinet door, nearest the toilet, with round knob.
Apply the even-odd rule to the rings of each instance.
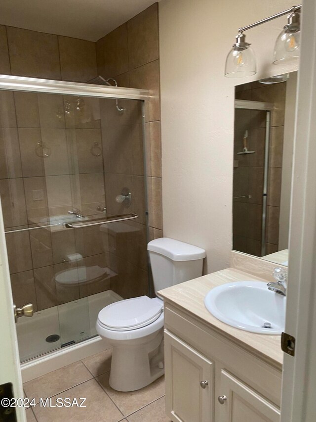
[[[214,365],[164,333],[166,412],[173,422],[213,422]]]

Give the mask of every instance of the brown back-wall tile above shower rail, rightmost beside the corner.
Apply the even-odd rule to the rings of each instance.
[[[97,76],[95,43],[61,36],[58,43],[64,81],[87,82]]]

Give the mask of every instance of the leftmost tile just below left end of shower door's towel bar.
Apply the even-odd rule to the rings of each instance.
[[[29,232],[8,233],[5,238],[10,273],[21,273],[32,270],[33,264]]]

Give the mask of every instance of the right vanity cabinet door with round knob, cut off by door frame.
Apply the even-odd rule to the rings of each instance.
[[[279,409],[246,384],[224,370],[220,381],[220,422],[279,422]]]

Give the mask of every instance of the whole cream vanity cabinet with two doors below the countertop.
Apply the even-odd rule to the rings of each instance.
[[[164,342],[173,422],[279,422],[281,368],[273,362],[168,302]]]

